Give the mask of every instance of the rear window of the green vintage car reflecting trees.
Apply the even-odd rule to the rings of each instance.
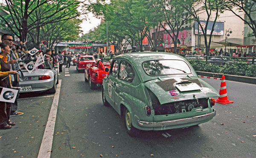
[[[150,60],[143,63],[143,69],[148,75],[190,74],[191,69],[182,60]]]

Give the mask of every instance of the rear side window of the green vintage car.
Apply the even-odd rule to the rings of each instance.
[[[121,80],[125,80],[128,82],[132,82],[134,80],[134,69],[132,68],[131,64],[128,63],[125,60],[122,60],[120,62],[120,68],[119,68],[119,75],[118,78]]]

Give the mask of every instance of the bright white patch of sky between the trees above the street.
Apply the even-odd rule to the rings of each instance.
[[[80,25],[81,30],[84,31],[84,34],[87,33],[87,31],[89,31],[90,29],[93,29],[94,27],[100,24],[100,19],[93,17],[93,14],[89,14],[88,17],[89,19],[84,20],[83,23]]]

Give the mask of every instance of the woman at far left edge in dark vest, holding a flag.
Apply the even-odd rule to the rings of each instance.
[[[0,43],[0,87],[11,88],[10,75],[16,71],[10,71],[11,65],[7,61],[10,55],[10,47],[6,43]],[[6,76],[9,76],[9,78]],[[10,122],[11,103],[0,101],[0,129],[10,129],[15,123]]]

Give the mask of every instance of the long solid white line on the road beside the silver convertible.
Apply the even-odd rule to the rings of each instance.
[[[61,80],[59,80],[55,97],[52,101],[51,111],[49,113],[48,121],[45,126],[44,136],[41,142],[41,147],[39,149],[38,158],[50,158],[51,157],[51,150],[52,150],[52,139],[54,134],[54,127],[58,109],[58,100],[60,96],[61,90]]]

